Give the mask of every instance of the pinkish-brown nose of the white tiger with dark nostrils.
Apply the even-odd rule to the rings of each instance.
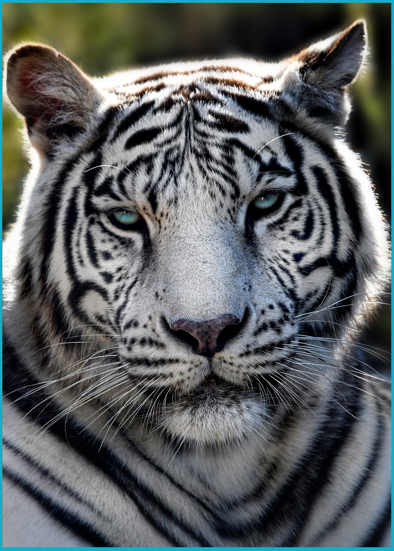
[[[232,314],[225,314],[216,320],[196,322],[190,320],[178,320],[172,324],[175,336],[181,341],[191,344],[197,354],[212,356],[219,352],[228,339],[238,331],[231,328],[238,325],[239,318]]]

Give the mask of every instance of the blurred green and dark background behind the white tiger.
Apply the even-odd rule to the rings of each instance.
[[[3,53],[22,41],[50,44],[93,76],[205,57],[275,61],[358,18],[368,25],[370,55],[352,88],[348,140],[368,165],[390,221],[391,4],[4,3]],[[3,230],[14,219],[29,169],[22,128],[4,106]],[[389,338],[388,315],[387,309],[374,340]]]

